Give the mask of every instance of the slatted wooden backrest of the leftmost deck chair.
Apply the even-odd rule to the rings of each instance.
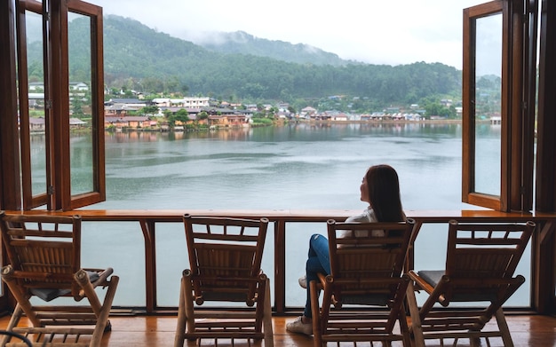
[[[20,288],[71,289],[80,269],[81,217],[23,216],[0,212],[0,229],[12,276]]]

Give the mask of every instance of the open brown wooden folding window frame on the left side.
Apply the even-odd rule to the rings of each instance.
[[[46,205],[49,210],[69,210],[106,200],[104,146],[104,69],[102,42],[102,8],[79,0],[22,0],[18,11],[18,59],[20,67],[21,131],[21,191],[23,209]],[[26,10],[44,18],[44,99],[46,138],[46,193],[32,194],[30,135],[28,126],[27,45],[25,35]],[[92,190],[72,195],[69,127],[69,60],[68,12],[91,19],[91,133]],[[60,37],[59,40],[51,39]]]

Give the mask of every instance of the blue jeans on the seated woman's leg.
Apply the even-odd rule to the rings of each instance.
[[[330,273],[329,241],[321,234],[315,233],[309,240],[309,257],[306,263],[307,275],[307,301],[303,315],[307,318],[313,317],[311,312],[311,291],[309,283],[318,280],[317,273]]]

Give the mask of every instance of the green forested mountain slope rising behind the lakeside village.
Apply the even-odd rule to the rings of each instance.
[[[80,64],[87,54],[87,30],[86,21],[70,23],[72,81],[87,73]],[[322,53],[315,52],[315,60]],[[124,86],[145,93],[180,91],[217,99],[291,102],[348,95],[388,106],[461,94],[461,72],[440,63],[394,67],[346,61],[344,66],[331,66],[225,54],[115,15],[104,19],[104,66],[105,83],[110,88]]]

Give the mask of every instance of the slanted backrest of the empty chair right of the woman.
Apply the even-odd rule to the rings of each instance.
[[[535,223],[467,224],[449,222],[445,300],[496,300],[512,280]]]

